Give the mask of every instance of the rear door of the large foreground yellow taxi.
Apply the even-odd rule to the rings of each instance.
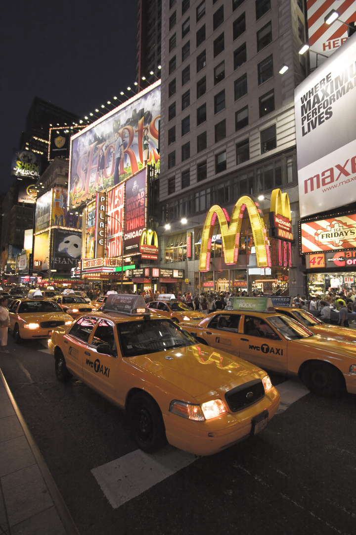
[[[67,367],[80,378],[83,378],[83,361],[88,356],[88,341],[96,323],[97,318],[82,316],[64,336],[63,348]]]

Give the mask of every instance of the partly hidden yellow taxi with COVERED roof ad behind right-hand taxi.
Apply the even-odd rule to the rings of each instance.
[[[271,301],[277,312],[286,314],[286,316],[302,323],[314,334],[326,334],[338,340],[349,340],[356,343],[355,329],[321,322],[307,310],[292,307],[292,297],[272,296]]]

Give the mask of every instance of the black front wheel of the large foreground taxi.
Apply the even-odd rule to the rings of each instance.
[[[167,442],[162,412],[151,396],[143,392],[133,395],[128,415],[133,438],[145,453],[153,453]]]

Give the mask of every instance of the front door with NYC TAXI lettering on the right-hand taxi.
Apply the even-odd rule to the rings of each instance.
[[[240,331],[241,358],[268,370],[287,371],[287,340],[263,318],[244,315]]]

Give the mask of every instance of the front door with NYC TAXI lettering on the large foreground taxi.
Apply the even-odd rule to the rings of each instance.
[[[107,346],[107,352],[102,352],[104,346]],[[99,352],[97,348],[100,349]],[[117,348],[115,323],[106,318],[99,318],[84,351],[83,379],[85,383],[112,400],[116,397],[117,367],[121,361],[121,358],[118,358]]]

